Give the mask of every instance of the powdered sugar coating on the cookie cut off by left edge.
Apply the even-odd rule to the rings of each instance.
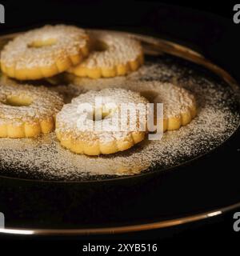
[[[30,106],[7,105],[7,98],[29,99]],[[62,109],[62,98],[44,86],[20,85],[14,80],[0,78],[0,123],[18,124],[54,117]]]

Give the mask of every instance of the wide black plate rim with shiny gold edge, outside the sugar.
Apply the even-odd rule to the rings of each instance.
[[[174,55],[237,83],[201,54],[174,42],[130,34],[150,54]],[[3,43],[12,35],[3,36]],[[200,67],[202,68],[202,67]],[[9,234],[97,234],[174,226],[240,206],[240,129],[201,157],[160,172],[82,182],[0,177],[0,211]],[[231,166],[231,168],[230,168]],[[238,203],[239,202],[239,203]]]

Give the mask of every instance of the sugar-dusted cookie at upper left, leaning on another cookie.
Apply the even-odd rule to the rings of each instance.
[[[43,26],[4,46],[2,72],[19,80],[48,78],[77,65],[88,54],[89,37],[75,26]]]

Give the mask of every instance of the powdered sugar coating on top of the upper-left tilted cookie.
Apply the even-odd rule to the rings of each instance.
[[[1,62],[16,70],[46,67],[77,55],[86,46],[89,38],[85,30],[75,26],[43,26],[14,38],[4,46]],[[52,41],[50,46],[30,47],[34,42]]]

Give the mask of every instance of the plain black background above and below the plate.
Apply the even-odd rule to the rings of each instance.
[[[70,23],[82,27],[129,30],[142,34],[150,34],[161,38],[170,38],[204,53],[218,65],[229,70],[234,78],[240,81],[239,49],[240,24],[232,21],[233,6],[238,2],[203,2],[203,1],[0,1],[6,8],[6,24],[0,24],[0,34],[26,30],[46,23]],[[167,10],[162,5],[168,5]],[[164,9],[164,11],[163,11]],[[186,11],[185,18],[182,13]],[[200,12],[199,12],[200,10]],[[203,11],[203,12],[202,12]],[[218,15],[218,18],[217,16]],[[219,17],[220,16],[220,17]],[[219,54],[221,53],[221,54]],[[211,166],[210,166],[211,168]],[[31,242],[38,252],[47,253],[50,246],[55,252],[67,250],[70,255],[78,255],[81,243],[88,240],[103,242],[146,242],[156,239],[160,254],[163,250],[190,251],[207,253],[210,248],[229,250],[238,248],[240,232],[233,230],[233,214],[223,215],[210,221],[198,222],[186,226],[178,226],[168,230],[152,230],[141,233],[91,236],[87,238],[58,238],[50,242],[38,238]],[[10,237],[17,238],[17,237]],[[0,246],[7,250],[30,251],[29,239],[21,239],[21,243],[10,246],[6,237],[2,237]],[[9,239],[9,237],[7,237]],[[19,239],[19,238],[18,238]],[[82,241],[82,239],[84,239]],[[104,239],[104,240],[102,240]],[[24,242],[27,240],[28,242]],[[39,242],[42,246],[39,246]],[[228,242],[226,242],[228,241]],[[38,242],[36,244],[36,242]],[[151,241],[153,242],[153,241]],[[190,248],[190,243],[195,248]],[[210,247],[209,247],[210,246]],[[49,248],[49,247],[48,247]],[[0,248],[1,249],[1,248]],[[2,249],[1,249],[2,250]],[[34,252],[34,251],[32,251]]]

